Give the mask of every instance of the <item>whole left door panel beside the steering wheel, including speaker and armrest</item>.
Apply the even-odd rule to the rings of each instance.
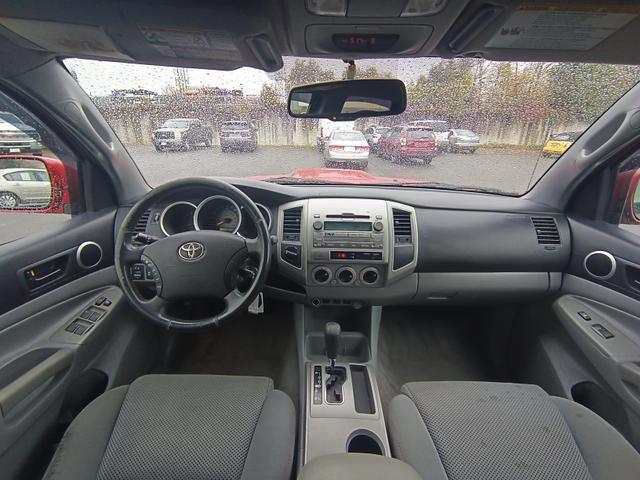
[[[151,368],[155,329],[116,286],[115,216],[115,209],[76,215],[0,245],[3,479],[37,478],[44,465],[32,460],[46,464],[67,422],[61,418]]]

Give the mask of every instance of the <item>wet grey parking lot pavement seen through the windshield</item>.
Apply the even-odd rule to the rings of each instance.
[[[151,185],[179,177],[286,175],[300,168],[324,166],[322,154],[303,147],[259,146],[255,152],[225,153],[219,147],[186,152],[156,152],[151,146],[128,149]],[[445,153],[430,165],[398,165],[371,154],[366,171],[385,177],[524,192],[536,162],[535,178],[553,162],[538,157],[538,152],[525,150],[479,149],[474,154]]]

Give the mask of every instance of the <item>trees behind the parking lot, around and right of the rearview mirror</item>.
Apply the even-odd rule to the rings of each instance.
[[[406,62],[410,67],[410,60]],[[345,68],[346,72],[346,68]],[[509,125],[591,123],[640,80],[640,67],[581,63],[491,62],[482,59],[435,60],[428,71],[403,78],[403,72],[357,69],[356,78],[398,77],[407,84],[404,117],[447,120],[458,127],[482,123]],[[345,78],[345,73],[341,75]],[[340,74],[313,59],[297,59],[285,79],[295,85],[337,80]],[[265,85],[263,102],[279,102]]]

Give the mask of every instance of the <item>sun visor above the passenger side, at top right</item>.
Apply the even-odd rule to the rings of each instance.
[[[437,48],[490,60],[640,63],[637,2],[472,2]]]

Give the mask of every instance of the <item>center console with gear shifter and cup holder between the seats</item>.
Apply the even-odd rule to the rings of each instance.
[[[390,456],[374,371],[379,307],[297,307],[301,466],[324,455]]]

